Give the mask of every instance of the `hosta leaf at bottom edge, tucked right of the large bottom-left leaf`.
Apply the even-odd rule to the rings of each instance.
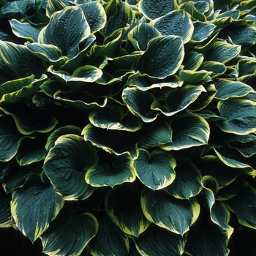
[[[62,213],[42,234],[42,252],[47,255],[80,255],[98,230],[98,222],[89,213]]]

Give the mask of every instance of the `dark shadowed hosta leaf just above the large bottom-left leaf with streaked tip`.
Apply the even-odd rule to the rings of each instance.
[[[28,178],[31,173],[40,175],[40,173],[42,173],[42,165],[26,165],[24,167],[19,167],[14,173],[10,173],[2,184],[5,192],[9,194],[18,187],[23,187],[26,178]]]

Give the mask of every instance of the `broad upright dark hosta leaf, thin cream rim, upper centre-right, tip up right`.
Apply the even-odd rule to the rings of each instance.
[[[166,78],[176,73],[184,59],[181,37],[155,37],[138,61],[138,70],[153,78]]]

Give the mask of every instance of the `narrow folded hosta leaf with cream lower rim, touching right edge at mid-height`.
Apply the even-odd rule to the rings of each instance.
[[[232,150],[232,148],[223,148],[222,151],[219,152],[216,148],[214,148],[217,157],[219,157],[219,159],[224,162],[225,165],[233,168],[239,168],[244,173],[254,178],[256,176],[256,170],[250,165],[244,163],[246,162],[246,159],[243,159],[241,154],[234,150],[235,149]]]

